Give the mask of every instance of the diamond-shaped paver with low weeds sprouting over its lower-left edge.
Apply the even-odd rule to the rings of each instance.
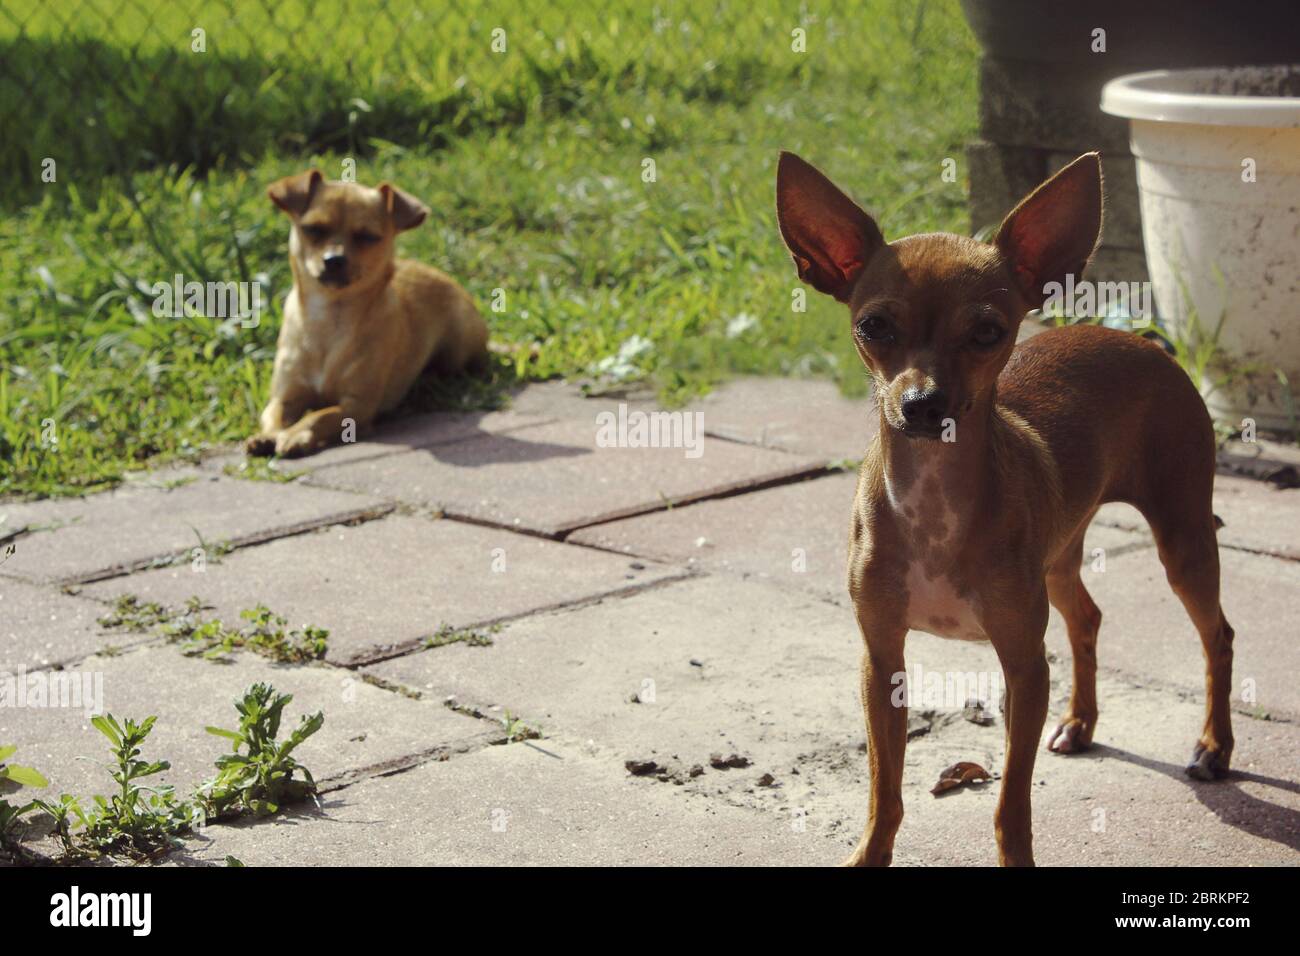
[[[208,563],[144,571],[87,587],[104,601],[135,594],[179,607],[198,596],[239,626],[264,604],[294,627],[328,628],[328,659],[396,653],[439,627],[524,614],[653,584],[681,571],[588,548],[460,522],[390,515],[356,527],[247,548]]]

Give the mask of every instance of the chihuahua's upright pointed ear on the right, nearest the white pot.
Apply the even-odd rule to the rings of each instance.
[[[1002,220],[993,245],[1035,308],[1044,286],[1082,277],[1101,234],[1101,157],[1087,152],[1044,182]]]

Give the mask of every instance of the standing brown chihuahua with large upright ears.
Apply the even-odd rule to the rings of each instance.
[[[1014,347],[1044,286],[1080,276],[1092,256],[1097,153],[1039,186],[993,245],[941,233],[885,243],[870,216],[790,153],[777,165],[776,208],[800,277],[849,306],[880,407],[849,550],[866,644],[871,814],[848,862],[888,865],[893,856],[907,710],[890,704],[890,691],[915,628],[988,640],[997,652],[1008,688],[998,857],[1034,864],[1030,783],[1048,711],[1048,602],[1074,653],[1070,708],[1048,747],[1072,753],[1097,723],[1101,611],[1079,576],[1083,536],[1109,501],[1147,518],[1205,649],[1205,727],[1187,771],[1226,775],[1232,628],[1219,607],[1205,406],[1173,359],[1124,332],[1076,325]]]

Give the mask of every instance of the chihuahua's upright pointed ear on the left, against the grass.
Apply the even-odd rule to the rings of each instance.
[[[884,245],[875,220],[793,152],[776,163],[776,222],[800,278],[840,302]]]

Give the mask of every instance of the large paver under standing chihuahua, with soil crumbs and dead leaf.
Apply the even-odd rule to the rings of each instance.
[[[786,823],[803,819],[836,843],[835,852],[818,844],[802,860],[824,864],[852,848],[866,818],[858,648],[845,610],[712,579],[516,622],[493,648],[441,648],[373,670],[433,696],[455,693],[460,702],[536,721],[546,734],[538,743],[543,748],[586,745],[615,765],[638,760],[663,767],[667,782],[656,774],[629,778],[629,803],[642,799],[632,787],[649,784],[703,793]],[[987,645],[919,633],[909,636],[907,666],[918,687],[926,672],[944,679],[998,672]],[[647,678],[653,700],[633,702],[651,689]],[[1076,862],[1080,855],[1105,864],[1294,861],[1300,790],[1288,779],[1300,727],[1239,718],[1236,765],[1244,775],[1197,784],[1183,777],[1182,761],[1200,730],[1200,697],[1110,676],[1102,676],[1100,693],[1105,717],[1097,749],[1040,756],[1043,862]],[[1069,662],[1062,659],[1053,665],[1049,719],[1067,697]],[[1001,718],[992,727],[967,723],[962,702],[939,706],[930,732],[909,744],[900,862],[996,861],[998,784],[937,800],[928,793],[939,773],[959,760],[1001,773]],[[927,706],[922,700],[914,714]],[[996,702],[989,709],[996,713]],[[734,753],[749,763],[716,769],[712,753]],[[693,766],[702,773],[690,777]],[[772,778],[766,786],[764,774]],[[1101,834],[1092,830],[1098,808],[1110,821]],[[1149,832],[1157,822],[1158,838]]]

